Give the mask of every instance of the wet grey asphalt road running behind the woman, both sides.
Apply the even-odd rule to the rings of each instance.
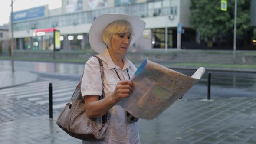
[[[0,67],[0,70],[10,70],[11,63],[7,60],[0,60]],[[35,72],[42,77],[74,79],[79,81],[84,69],[84,64],[15,61],[14,68],[20,71]],[[195,70],[174,70],[189,76],[193,75],[195,72]],[[184,98],[207,98],[207,77],[208,71],[206,71],[203,78],[184,95]],[[256,73],[211,72],[211,98],[255,97],[255,93]]]

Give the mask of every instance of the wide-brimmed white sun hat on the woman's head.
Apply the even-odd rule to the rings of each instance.
[[[130,45],[141,36],[146,23],[134,16],[125,14],[103,14],[98,16],[93,22],[89,30],[89,42],[96,52],[102,53],[105,51],[106,45],[102,40],[102,32],[110,23],[116,20],[126,20],[131,23],[132,39]]]

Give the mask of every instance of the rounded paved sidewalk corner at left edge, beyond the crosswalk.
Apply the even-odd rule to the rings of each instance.
[[[10,70],[0,71],[0,89],[23,85],[37,79],[38,76],[31,72],[15,71],[12,73]]]

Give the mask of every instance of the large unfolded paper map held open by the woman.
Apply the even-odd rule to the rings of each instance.
[[[137,118],[151,120],[181,98],[204,72],[201,67],[190,77],[144,60],[131,79],[136,86],[130,97],[119,101],[118,105]]]

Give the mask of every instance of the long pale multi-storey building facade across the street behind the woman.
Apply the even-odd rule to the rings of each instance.
[[[93,20],[105,13],[136,16],[146,22],[143,35],[131,49],[177,47],[177,25],[182,42],[195,42],[190,29],[190,0],[62,0],[62,7],[34,7],[13,13],[15,49],[53,49],[53,31],[60,32],[61,49],[90,49]],[[42,33],[38,33],[42,32]]]

